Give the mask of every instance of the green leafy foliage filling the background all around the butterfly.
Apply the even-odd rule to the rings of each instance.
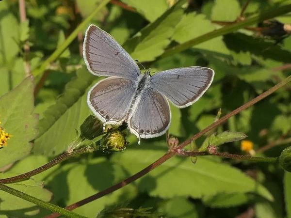
[[[291,37],[276,43],[253,31],[255,22],[252,30],[200,38],[200,43],[182,52],[163,55],[224,28],[213,21],[240,20],[247,0],[114,0],[97,11],[105,1],[26,0],[25,21],[20,19],[17,0],[0,1],[0,125],[11,135],[0,149],[0,179],[36,169],[64,153],[92,114],[87,92],[101,78],[88,72],[81,56],[86,18],[111,33],[153,73],[185,66],[215,71],[212,85],[199,101],[184,109],[171,105],[169,135],[180,142],[215,122],[220,109],[226,115],[290,75]],[[290,4],[290,0],[251,0],[243,15],[246,20],[262,12],[271,16],[275,9],[290,8]],[[272,18],[291,23],[290,13]],[[27,74],[27,65],[32,75]],[[289,83],[183,151],[206,153],[212,145],[223,154],[254,155],[241,150],[240,140],[247,137],[256,156],[280,156],[291,143],[290,89]],[[127,149],[118,149],[124,152],[89,151],[7,186],[65,207],[125,180],[168,151],[165,135],[141,140],[141,145],[135,136],[126,135]],[[97,141],[90,140],[82,146]],[[291,217],[291,173],[283,173],[279,164],[217,156],[194,159],[171,157],[137,181],[74,212],[101,217],[113,210],[133,213],[133,208],[147,217],[224,218],[251,208],[256,217]],[[0,190],[0,218],[38,218],[50,213]]]

